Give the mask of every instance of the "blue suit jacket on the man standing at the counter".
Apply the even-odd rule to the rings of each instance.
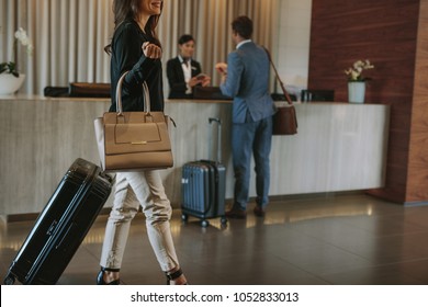
[[[234,99],[234,123],[257,122],[273,115],[269,71],[268,54],[252,42],[245,43],[227,56],[227,78],[221,90]]]

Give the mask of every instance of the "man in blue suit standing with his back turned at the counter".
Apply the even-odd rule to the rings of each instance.
[[[274,104],[269,92],[270,61],[263,47],[251,41],[252,21],[239,16],[232,23],[236,50],[222,72],[222,93],[234,99],[232,151],[235,172],[234,204],[229,218],[245,218],[249,200],[251,154],[256,171],[256,216],[264,216],[269,203],[270,150]]]

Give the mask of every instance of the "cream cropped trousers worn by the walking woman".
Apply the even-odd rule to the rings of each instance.
[[[146,216],[148,239],[161,270],[166,272],[179,266],[169,224],[172,208],[159,171],[116,174],[116,189],[105,228],[101,266],[121,269],[131,221],[139,206]]]

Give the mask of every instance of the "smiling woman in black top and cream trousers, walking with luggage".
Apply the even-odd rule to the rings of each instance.
[[[124,111],[143,111],[143,82],[150,93],[151,111],[164,111],[162,49],[156,27],[162,0],[114,0],[115,30],[105,47],[111,54],[112,105],[116,111],[115,91],[124,72],[122,103]],[[101,252],[99,285],[120,284],[120,270],[131,221],[139,207],[146,216],[150,245],[168,284],[187,284],[176,254],[170,230],[172,208],[165,193],[159,171],[119,172],[113,207],[106,223]]]

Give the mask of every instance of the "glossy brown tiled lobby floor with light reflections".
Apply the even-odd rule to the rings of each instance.
[[[403,207],[364,194],[288,197],[264,218],[219,218],[203,228],[180,209],[171,221],[181,266],[193,285],[428,284],[428,206]],[[106,216],[100,216],[59,280],[94,284]],[[0,276],[33,223],[0,223]],[[144,216],[133,221],[121,270],[125,284],[165,284]]]

